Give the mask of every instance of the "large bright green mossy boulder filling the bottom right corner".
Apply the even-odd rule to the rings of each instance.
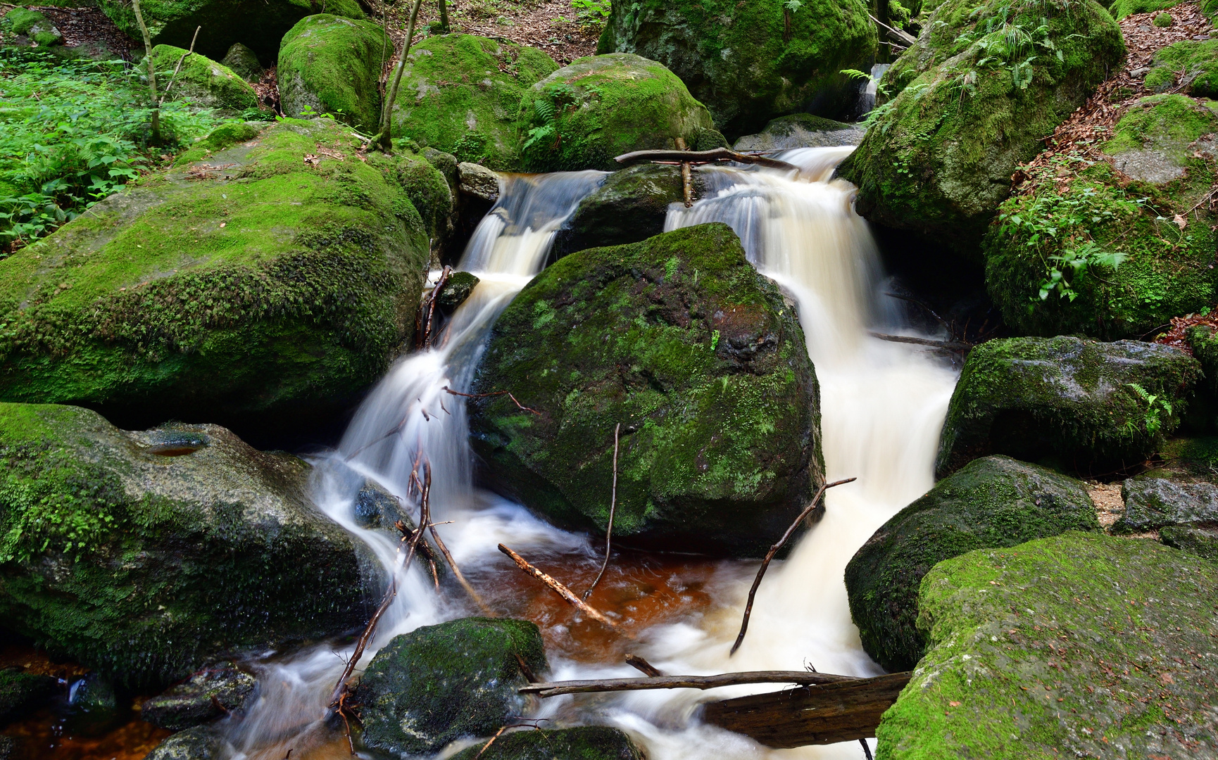
[[[1071,532],[939,563],[884,760],[1212,758],[1218,565]]]

